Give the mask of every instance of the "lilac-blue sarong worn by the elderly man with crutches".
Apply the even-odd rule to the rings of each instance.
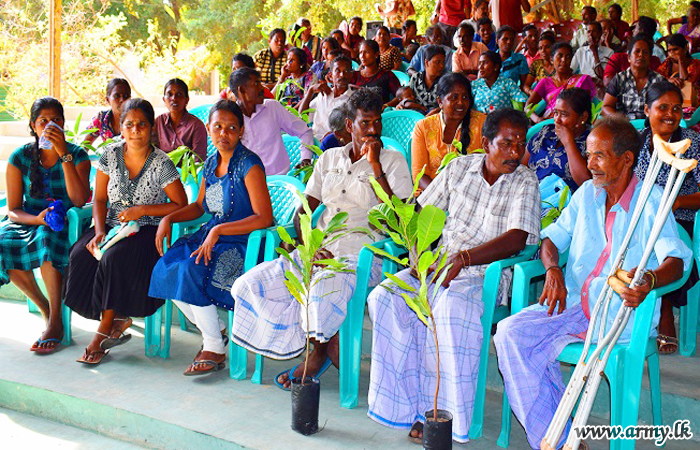
[[[575,335],[586,331],[588,323],[580,304],[551,317],[533,305],[498,323],[493,338],[498,367],[510,407],[534,449],[540,448],[566,389],[557,357],[568,344],[581,341]],[[557,448],[564,445],[570,427],[571,420]]]

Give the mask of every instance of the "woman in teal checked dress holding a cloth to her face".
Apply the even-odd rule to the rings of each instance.
[[[50,122],[58,127],[48,126]],[[8,215],[0,222],[0,285],[14,283],[41,311],[46,330],[32,345],[51,353],[61,342],[61,286],[68,265],[68,227],[52,230],[49,204],[61,200],[66,210],[83,206],[90,195],[90,161],[82,148],[66,142],[63,106],[52,97],[32,105],[29,128],[35,141],[15,150],[7,165]],[[39,147],[42,136],[50,145]],[[34,278],[41,269],[48,300]]]

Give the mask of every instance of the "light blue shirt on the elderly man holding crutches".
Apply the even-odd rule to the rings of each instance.
[[[607,282],[612,264],[627,232],[641,188],[642,182],[636,176],[633,177],[620,201],[610,208],[607,214],[608,223],[606,223],[605,200],[607,194],[603,189],[596,189],[591,180],[586,181],[571,197],[571,202],[564,208],[559,219],[540,233],[542,239],[551,239],[559,252],[569,250],[565,275],[566,289],[568,291],[566,297],[567,308],[579,305],[584,300],[584,304],[588,302],[589,314],[593,312],[595,303]],[[661,195],[661,189],[658,186],[654,186],[642,211],[637,228],[632,235],[627,257],[623,263],[623,269],[625,270],[636,267],[642,259],[644,247],[651,234],[654,217],[660,208]],[[611,245],[607,245],[608,236],[612,237]],[[607,261],[602,265],[601,270],[600,266],[603,264],[606,256]],[[685,270],[690,267],[692,262],[692,252],[678,235],[678,226],[673,214],[669,214],[661,230],[659,239],[654,245],[654,251],[647,262],[647,269],[653,270],[657,268],[668,257],[683,259]],[[595,272],[599,274],[596,276]],[[591,281],[588,289],[585,289],[586,280],[589,276]],[[544,306],[540,305],[534,306],[544,308]],[[619,295],[614,294],[607,316],[606,329],[609,329],[613,324],[615,315],[621,306],[622,299]],[[650,334],[656,333],[660,309],[661,302],[659,301],[656,304]],[[629,342],[634,314],[633,312],[630,316],[630,321],[620,336],[620,343]],[[594,330],[594,333],[593,342],[596,342],[598,337],[597,330]]]

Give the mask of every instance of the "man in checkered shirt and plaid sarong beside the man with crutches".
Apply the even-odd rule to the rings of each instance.
[[[482,130],[486,154],[452,161],[418,197],[420,205],[449,214],[442,245],[452,267],[442,286],[428,289],[428,297],[438,289],[432,305],[442,361],[438,407],[453,414],[452,438],[458,442],[469,440],[486,267],[539,241],[537,177],[520,164],[527,127],[522,112],[500,109],[489,114]],[[409,269],[397,276],[413,287],[420,284]],[[409,438],[419,440],[424,413],[433,405],[435,345],[396,292],[400,289],[391,282],[384,285],[391,290],[376,288],[367,300],[374,323],[368,415],[392,428],[411,428]],[[503,292],[507,284],[501,288]]]

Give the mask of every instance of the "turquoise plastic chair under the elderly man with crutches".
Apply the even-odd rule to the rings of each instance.
[[[683,242],[690,247],[692,244],[688,233],[681,226],[678,226],[678,232]],[[561,254],[559,264],[563,266],[567,258],[568,252]],[[511,314],[516,314],[531,303],[530,283],[533,278],[544,275],[544,272],[541,260],[527,261],[515,266]],[[653,422],[654,425],[662,424],[659,354],[656,350],[656,338],[649,337],[649,330],[651,330],[657,300],[664,294],[683,286],[689,275],[690,269],[684,271],[680,280],[651,291],[635,312],[629,344],[615,345],[605,367],[605,376],[610,384],[610,425],[621,425],[623,428],[637,425],[645,360],[647,360],[649,370]],[[595,346],[591,347],[590,352],[593,350],[595,350]],[[567,364],[576,364],[582,351],[583,343],[569,344],[561,352],[558,359]],[[508,447],[510,442],[510,421],[510,403],[504,391],[501,435],[498,438],[500,447]],[[635,441],[631,439],[610,442],[611,449],[633,449],[634,446]]]

